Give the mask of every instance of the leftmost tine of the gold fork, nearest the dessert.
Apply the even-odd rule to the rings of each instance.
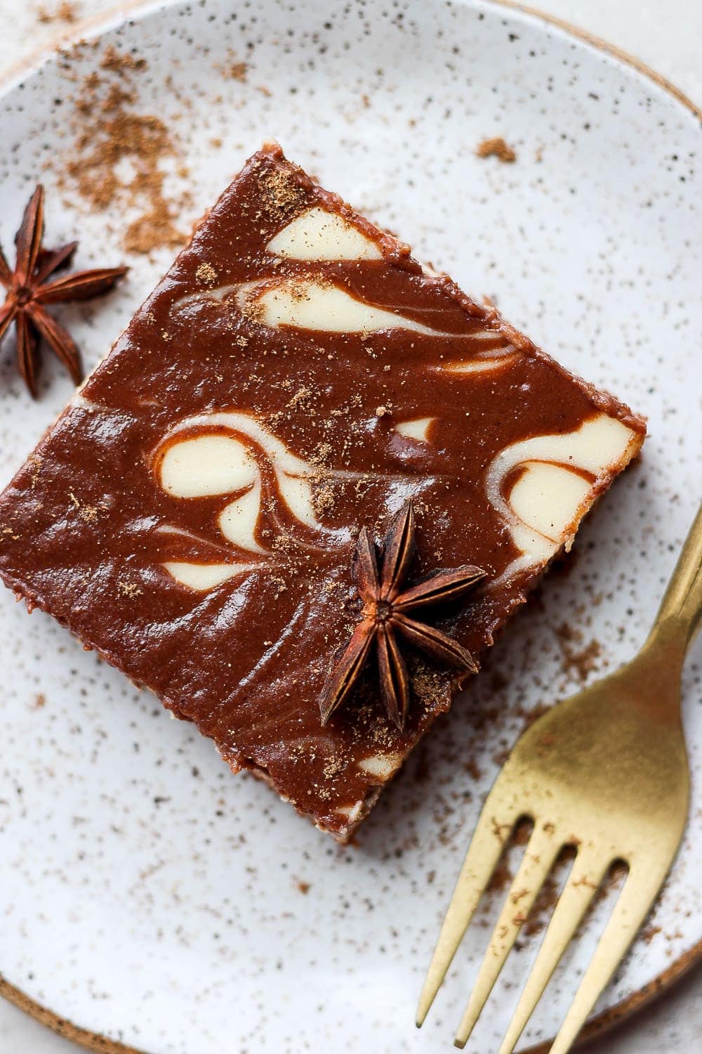
[[[514,824],[521,815],[515,806],[504,816],[504,804],[496,790],[498,790],[497,784],[485,799],[478,826],[470,839],[468,852],[465,854],[465,860],[456,881],[426,973],[422,994],[419,997],[417,1028],[421,1027],[434,1002],[456,954],[456,949],[461,943],[483,891],[502,856],[502,851],[512,834]],[[504,817],[504,822],[498,823],[497,816],[500,816],[501,819]]]

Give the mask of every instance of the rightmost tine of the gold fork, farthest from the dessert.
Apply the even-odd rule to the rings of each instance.
[[[624,889],[549,1054],[566,1054],[570,1050],[590,1010],[648,914],[669,866],[669,859],[658,865],[651,860],[642,861],[638,865],[631,864]]]

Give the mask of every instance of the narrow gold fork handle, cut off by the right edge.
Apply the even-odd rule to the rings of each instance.
[[[702,617],[702,505],[689,529],[665,590],[649,641],[675,639],[684,656]],[[681,658],[682,658],[681,656]]]

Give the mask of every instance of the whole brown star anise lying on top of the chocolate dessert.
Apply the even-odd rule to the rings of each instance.
[[[415,551],[412,502],[405,503],[390,524],[380,569],[370,531],[363,527],[359,533],[352,571],[363,608],[320,701],[322,724],[349,698],[374,644],[382,700],[388,718],[400,730],[404,728],[409,705],[409,675],[400,651],[401,638],[439,662],[478,671],[473,656],[464,647],[440,629],[412,618],[410,612],[457,600],[484,579],[485,571],[469,564],[454,570],[437,570],[405,589],[403,583]]]

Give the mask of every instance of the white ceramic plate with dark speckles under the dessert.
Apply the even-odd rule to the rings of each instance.
[[[115,106],[133,143],[151,129],[151,153],[122,156],[112,176],[102,156],[91,173]],[[353,848],[233,777],[188,725],[3,592],[3,991],[104,1051],[437,1051],[453,1037],[500,890],[421,1032],[415,1002],[503,753],[535,707],[641,643],[700,497],[699,126],[645,74],[492,4],[203,0],[141,12],[51,57],[0,100],[3,243],[41,177],[49,243],[79,234],[80,265],[133,265],[112,299],[63,313],[89,365],[174,251],[127,253],[126,225],[158,241],[163,228],[143,219],[153,208],[162,219],[165,201],[186,230],[265,136],[648,414],[650,437],[583,528],[568,573],[551,575],[516,620]],[[515,149],[514,163],[476,156],[493,136]],[[165,173],[160,198],[159,177],[156,199],[124,190],[155,172]],[[0,482],[69,395],[52,364],[43,376],[32,404],[3,346]],[[700,655],[698,644],[683,692],[689,831],[598,1007],[600,1024],[700,950]],[[521,1049],[558,1027],[610,903],[585,926]],[[502,1035],[546,907],[473,1051]]]

